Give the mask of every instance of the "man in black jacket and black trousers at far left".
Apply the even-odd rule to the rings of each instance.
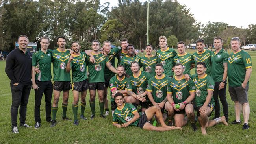
[[[6,59],[6,74],[11,80],[11,126],[13,133],[19,133],[17,128],[18,108],[20,106],[20,126],[31,128],[25,123],[28,96],[31,89],[32,54],[27,50],[28,37],[20,35],[19,48],[11,51]]]

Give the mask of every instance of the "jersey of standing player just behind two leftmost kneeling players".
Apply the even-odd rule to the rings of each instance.
[[[134,55],[134,57],[129,57],[128,55],[126,55],[124,58],[122,58],[122,61],[120,62],[120,65],[124,66],[126,74],[128,74],[129,76],[132,76],[131,64],[134,61],[140,63],[141,58],[138,55]]]

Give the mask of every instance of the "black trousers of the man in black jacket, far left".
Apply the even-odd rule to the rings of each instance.
[[[30,94],[31,85],[11,85],[11,126],[17,127],[18,109],[20,106],[20,125],[25,124],[28,97]]]

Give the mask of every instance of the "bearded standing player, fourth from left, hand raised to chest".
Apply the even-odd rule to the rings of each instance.
[[[85,52],[80,52],[81,46],[77,41],[72,42],[72,50],[74,53],[69,57],[69,61],[67,63],[67,72],[70,72],[72,69],[72,92],[74,96],[72,110],[74,114],[74,125],[78,125],[77,119],[77,110],[78,110],[78,101],[79,94],[81,92],[81,114],[80,118],[83,120],[87,120],[84,116],[85,111],[85,97],[88,89],[88,79],[87,79],[87,66],[85,63],[86,54]]]

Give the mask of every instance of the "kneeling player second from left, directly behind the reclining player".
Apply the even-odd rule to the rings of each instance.
[[[135,105],[141,105],[144,112],[148,107],[152,106],[152,103],[147,96],[147,85],[151,75],[148,72],[139,70],[139,63],[134,61],[131,63],[132,76],[129,78],[127,85],[126,103],[133,103]]]

